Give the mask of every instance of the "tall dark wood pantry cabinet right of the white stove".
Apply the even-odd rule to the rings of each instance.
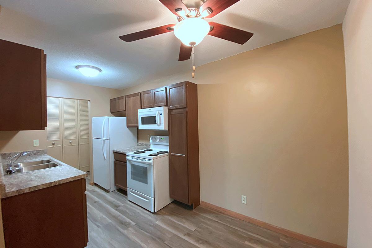
[[[170,197],[200,204],[198,85],[188,81],[168,87]]]

